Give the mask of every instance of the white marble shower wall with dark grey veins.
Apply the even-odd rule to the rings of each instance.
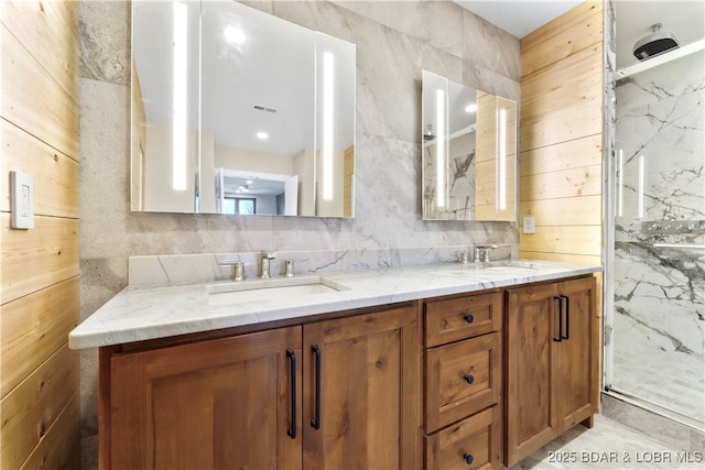
[[[704,69],[699,52],[617,84],[615,195],[615,343],[625,341],[644,354],[679,351],[699,358],[701,387]]]

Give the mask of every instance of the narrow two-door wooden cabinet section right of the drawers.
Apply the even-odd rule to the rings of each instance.
[[[598,411],[595,277],[507,291],[505,464]]]

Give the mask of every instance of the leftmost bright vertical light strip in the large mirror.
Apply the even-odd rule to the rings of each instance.
[[[188,9],[184,3],[174,2],[174,68],[173,86],[173,122],[172,122],[172,187],[174,190],[186,190],[186,74],[188,43]]]

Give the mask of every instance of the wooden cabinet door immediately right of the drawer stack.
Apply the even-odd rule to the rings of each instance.
[[[508,467],[558,435],[554,337],[557,284],[507,292],[505,327],[506,449]]]

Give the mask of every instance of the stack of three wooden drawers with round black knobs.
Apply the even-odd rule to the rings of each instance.
[[[424,303],[426,469],[501,468],[502,294]]]

